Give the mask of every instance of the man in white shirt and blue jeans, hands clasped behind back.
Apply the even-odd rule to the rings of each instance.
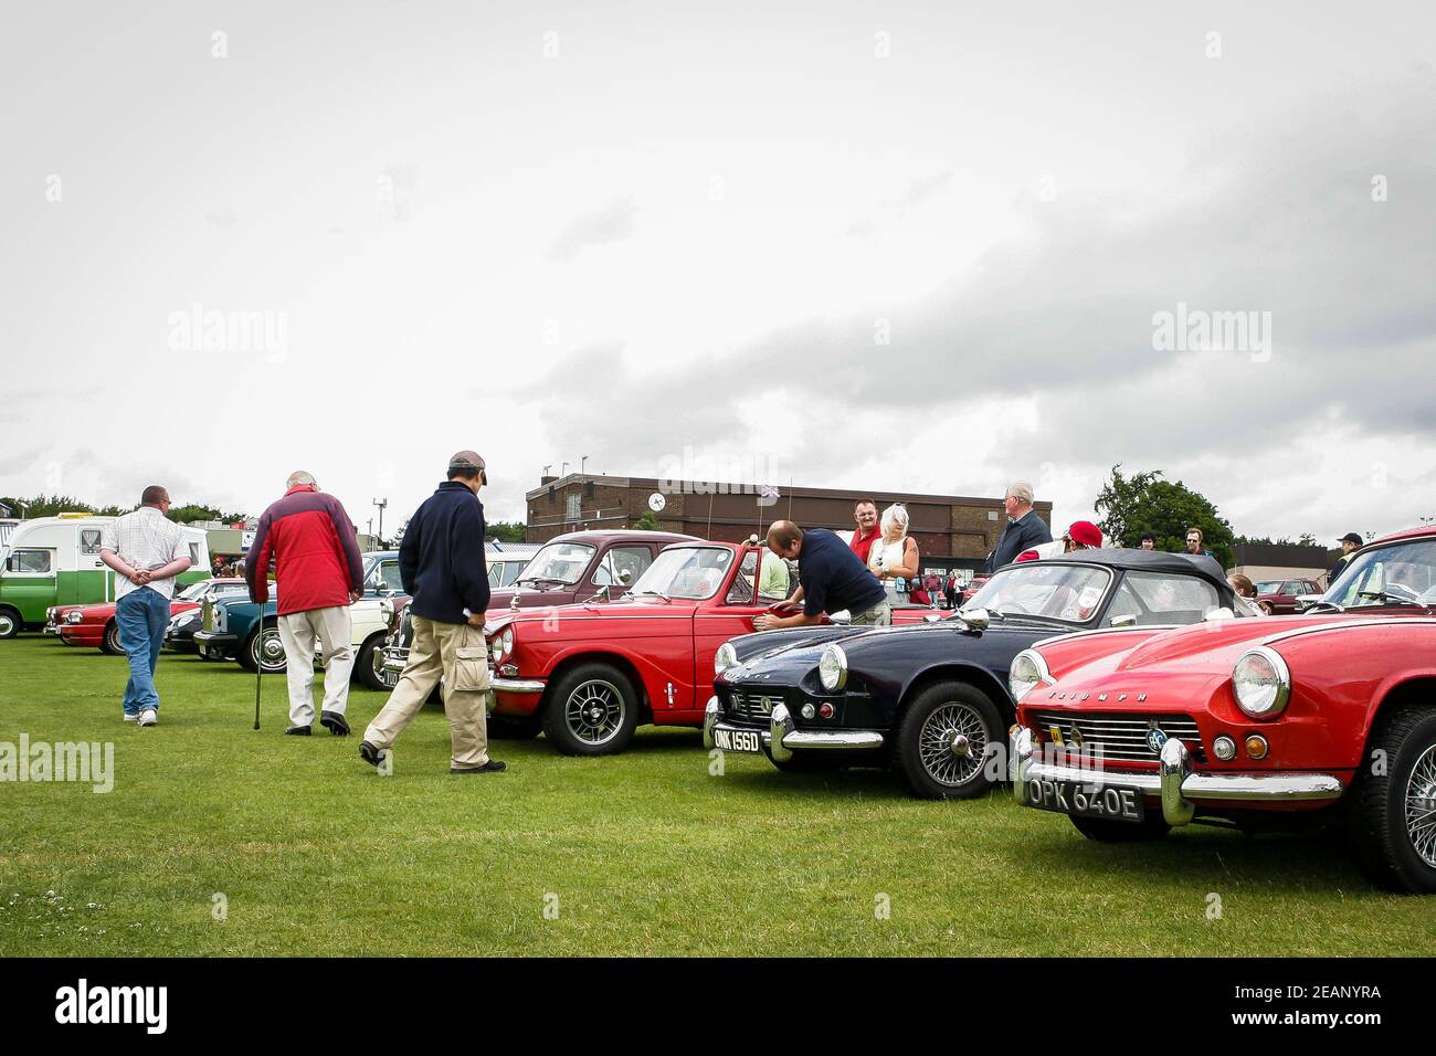
[[[165,517],[168,509],[169,493],[151,484],[139,497],[139,509],[112,522],[99,545],[99,559],[115,569],[115,622],[119,645],[129,657],[125,721],[139,726],[158,720],[155,665],[175,576],[190,568],[184,530]]]

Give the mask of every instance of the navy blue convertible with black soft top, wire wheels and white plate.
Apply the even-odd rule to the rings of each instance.
[[[1239,608],[1211,557],[1081,550],[1008,565],[954,619],[728,642],[705,743],[784,770],[890,766],[915,796],[975,796],[1002,776],[989,757],[1012,721],[1007,674],[1020,651],[1070,631],[1196,624]]]

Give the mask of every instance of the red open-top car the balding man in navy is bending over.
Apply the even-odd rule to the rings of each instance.
[[[757,593],[758,555],[676,543],[612,602],[490,609],[490,731],[541,728],[564,754],[605,756],[639,723],[702,726],[718,647],[781,601]]]

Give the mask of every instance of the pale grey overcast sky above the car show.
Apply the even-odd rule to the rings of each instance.
[[[10,4],[0,91],[0,493],[393,526],[472,447],[491,520],[582,455],[1436,514],[1426,0]]]

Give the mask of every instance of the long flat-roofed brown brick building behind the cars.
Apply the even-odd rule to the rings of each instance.
[[[1001,499],[929,496],[900,491],[847,491],[821,487],[780,488],[777,501],[760,506],[754,490],[738,484],[659,481],[653,477],[609,477],[570,473],[543,477],[527,493],[527,542],[544,543],[580,529],[633,527],[649,510],[652,496],[662,497],[655,511],[665,532],[686,532],[702,539],[740,542],[763,534],[768,524],[790,517],[803,527],[853,529],[853,504],[872,499],[877,511],[892,503],[908,507],[909,534],[928,569],[975,569],[997,546],[1007,517]],[[1051,524],[1053,504],[1037,503],[1037,514]]]

